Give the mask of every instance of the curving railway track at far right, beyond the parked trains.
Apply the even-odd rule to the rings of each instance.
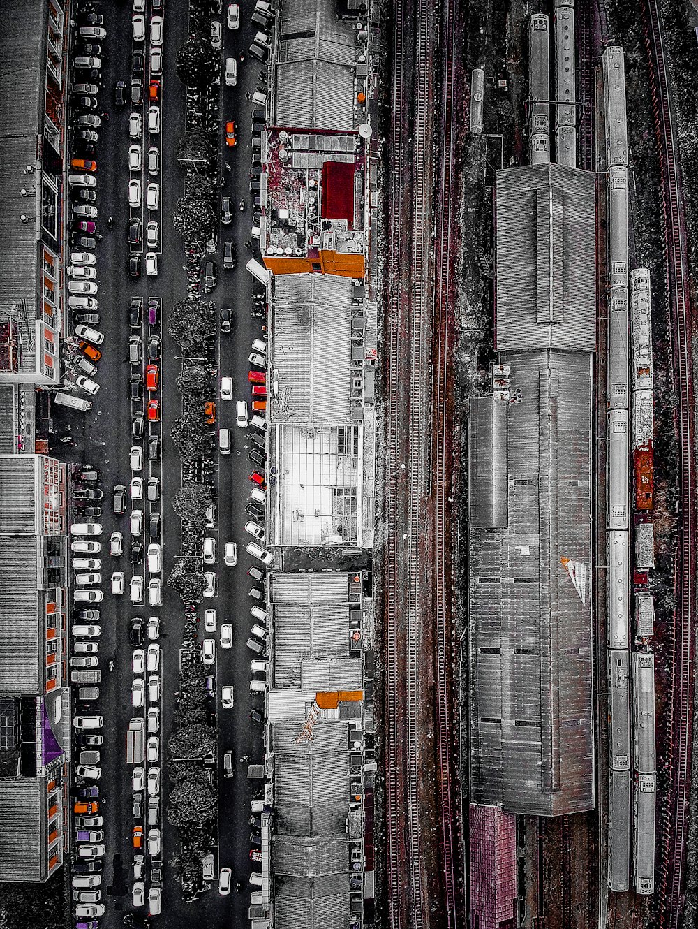
[[[666,242],[666,284],[673,323],[675,379],[679,394],[681,526],[679,541],[679,603],[673,641],[673,736],[670,790],[664,806],[659,860],[659,925],[678,927],[685,894],[685,856],[692,763],[692,637],[695,591],[693,571],[694,465],[691,355],[691,297],[688,247],[683,213],[682,179],[666,50],[657,0],[643,0],[645,44],[650,62],[654,123],[662,173],[663,225]],[[658,849],[659,850],[659,849]]]

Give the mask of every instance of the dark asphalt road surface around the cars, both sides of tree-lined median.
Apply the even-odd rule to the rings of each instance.
[[[128,136],[129,113],[132,108],[126,106],[117,109],[113,104],[113,86],[117,80],[123,80],[130,86],[131,80],[131,8],[122,3],[110,5],[97,3],[96,8],[105,17],[108,37],[103,46],[102,89],[99,97],[98,111],[108,111],[110,119],[100,129],[95,158],[97,159],[97,208],[99,212],[97,226],[103,234],[103,241],[97,245],[97,281],[99,285],[98,301],[100,324],[98,328],[105,334],[105,343],[101,346],[102,358],[98,363],[96,380],[100,391],[93,399],[93,409],[83,415],[64,409],[54,408],[57,425],[70,423],[73,435],[78,439],[74,449],[68,450],[62,457],[73,462],[88,462],[101,471],[99,486],[104,491],[102,505],[103,526],[102,542],[102,583],[105,598],[100,605],[102,635],[99,640],[100,668],[102,684],[98,707],[94,703],[76,704],[81,712],[99,712],[105,717],[105,744],[101,747],[100,764],[102,778],[100,787],[100,813],[104,816],[105,842],[107,857],[103,888],[106,895],[107,912],[100,921],[100,926],[120,925],[123,914],[131,911],[133,889],[133,828],[144,825],[143,820],[133,818],[133,791],[131,785],[130,765],[125,764],[125,732],[128,722],[134,715],[142,715],[143,709],[135,710],[131,704],[131,683],[133,673],[132,648],[128,641],[128,626],[132,616],[140,616],[144,625],[149,616],[158,615],[161,621],[160,645],[162,647],[161,682],[161,758],[166,741],[171,734],[174,716],[174,691],[177,689],[178,650],[181,642],[183,604],[165,584],[172,569],[174,556],[179,551],[179,521],[171,506],[174,492],[180,485],[180,462],[170,437],[171,425],[179,414],[181,405],[175,380],[181,364],[177,359],[178,348],[167,334],[166,320],[174,302],[187,292],[186,273],[183,269],[184,254],[178,233],[172,229],[171,217],[174,205],[183,190],[183,174],[175,161],[175,151],[184,129],[184,87],[180,84],[174,69],[177,48],[183,43],[186,34],[187,4],[184,0],[168,0],[164,11],[164,44],[162,71],[162,132],[159,136],[149,137],[147,132],[147,104],[134,107],[144,116],[144,135],[140,139],[144,151],[150,145],[161,149],[161,176],[149,176],[147,168],[139,175],[145,202],[146,187],[151,180],[161,183],[161,206],[155,216],[161,222],[161,252],[159,255],[159,275],[157,278],[146,277],[132,279],[127,272],[129,247],[126,228],[130,216],[127,188],[132,177],[128,170],[128,146],[133,139]],[[225,7],[225,5],[224,5]],[[244,48],[247,51],[254,30],[249,22],[249,12],[243,17],[238,32],[225,28],[225,8],[223,21],[224,49],[222,63],[227,54],[236,57]],[[140,43],[140,46],[143,44]],[[149,41],[146,42],[149,49]],[[106,53],[106,54],[105,54]],[[146,78],[148,79],[148,55]],[[251,201],[249,191],[249,171],[252,161],[252,137],[250,127],[251,104],[245,93],[254,90],[261,65],[246,56],[244,63],[239,62],[238,85],[222,85],[222,120],[235,119],[238,127],[238,146],[232,150],[225,149],[222,133],[223,159],[231,165],[229,173],[224,172],[226,184],[222,195],[228,195],[234,204],[244,197]],[[78,78],[73,77],[73,80]],[[82,79],[82,75],[81,75]],[[148,80],[146,80],[146,86]],[[76,152],[73,152],[76,153]],[[89,157],[89,156],[88,156]],[[143,226],[148,222],[149,211],[145,206],[132,211],[132,215],[141,216]],[[113,217],[113,228],[108,229],[106,219]],[[233,309],[233,331],[218,338],[216,355],[219,375],[230,375],[234,382],[234,399],[250,399],[247,383],[249,365],[247,356],[251,350],[252,339],[260,334],[259,321],[252,319],[252,278],[246,272],[244,264],[249,257],[244,242],[249,238],[252,224],[251,210],[248,206],[244,214],[236,209],[233,222],[221,227],[219,251],[213,255],[218,266],[218,284],[212,298],[220,306]],[[236,243],[239,267],[232,271],[223,270],[223,240]],[[149,327],[147,317],[140,330],[132,330],[128,321],[128,306],[132,296],[143,298],[144,307],[148,306],[151,296],[162,299],[162,314],[155,327]],[[138,365],[128,362],[127,343],[129,335],[139,333],[144,348],[147,347],[150,334],[162,334],[162,359],[160,390],[154,396],[161,400],[162,423],[146,424],[146,437],[136,440],[144,447],[145,478],[158,477],[161,483],[160,500],[151,504],[147,501],[129,501],[127,512],[116,517],[111,511],[111,492],[115,484],[128,486],[131,478],[128,453],[134,440],[131,436],[132,414],[144,412],[146,400],[132,402],[129,391],[129,378],[133,371],[145,375],[147,360]],[[249,693],[250,661],[252,652],[245,645],[251,625],[250,607],[252,601],[248,590],[252,579],[246,571],[251,558],[244,551],[244,545],[250,537],[244,532],[245,521],[249,518],[244,511],[250,489],[248,474],[251,470],[245,451],[245,433],[235,425],[235,402],[217,402],[217,426],[228,426],[233,438],[232,453],[218,458],[216,475],[217,521],[213,534],[216,538],[216,554],[219,558],[215,567],[217,574],[217,595],[206,599],[200,606],[201,627],[204,608],[213,607],[217,612],[217,625],[231,622],[234,627],[233,648],[224,650],[218,644],[216,648],[216,676],[218,694],[224,685],[232,684],[235,688],[235,706],[233,710],[219,707],[219,835],[220,848],[218,866],[229,867],[233,871],[233,888],[237,881],[247,883],[252,870],[249,859],[249,818],[250,800],[261,789],[261,782],[246,778],[246,767],[239,763],[243,755],[250,755],[252,762],[261,762],[263,758],[262,726],[250,719],[252,699]],[[157,462],[148,460],[148,434],[162,437],[162,459]],[[239,452],[239,453],[238,453]],[[128,595],[128,583],[132,573],[144,576],[146,585],[149,581],[148,570],[144,565],[132,568],[129,562],[129,512],[131,508],[145,511],[144,530],[141,541],[147,551],[150,512],[162,513],[162,606],[150,608],[133,606]],[[109,555],[109,538],[113,530],[123,532],[124,554],[120,558]],[[225,543],[238,543],[239,564],[234,569],[226,568],[222,556]],[[210,566],[207,566],[210,568]],[[110,594],[110,575],[113,570],[123,570],[125,575],[125,593],[123,596]],[[216,632],[216,638],[219,633]],[[146,642],[148,645],[148,642]],[[108,670],[108,662],[113,660],[113,672]],[[262,709],[261,701],[255,705]],[[236,776],[225,779],[222,775],[222,758],[224,752],[232,750],[236,765]],[[165,774],[163,768],[163,775]],[[161,805],[162,854],[164,863],[164,883],[162,889],[162,916],[153,922],[176,925],[187,922],[192,926],[212,924],[241,924],[247,918],[250,897],[249,885],[243,895],[233,893],[220,896],[217,884],[207,893],[202,894],[194,903],[184,905],[179,884],[174,880],[170,861],[176,852],[176,833],[163,816],[166,810],[169,784],[163,778],[163,795]],[[147,797],[144,797],[144,805]],[[146,833],[148,827],[145,826]],[[148,857],[148,856],[147,856]],[[149,870],[147,888],[149,887]],[[147,908],[136,910],[141,915]]]

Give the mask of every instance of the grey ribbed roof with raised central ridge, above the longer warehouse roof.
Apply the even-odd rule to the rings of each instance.
[[[596,179],[559,164],[497,174],[497,348],[596,348]]]

